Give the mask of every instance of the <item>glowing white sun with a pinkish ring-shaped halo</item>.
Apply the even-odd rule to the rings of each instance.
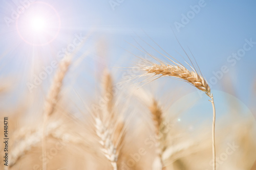
[[[20,38],[28,44],[47,45],[59,33],[60,17],[51,5],[35,2],[16,20],[16,29]]]

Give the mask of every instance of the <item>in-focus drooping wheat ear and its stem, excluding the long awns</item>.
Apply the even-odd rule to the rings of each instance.
[[[159,61],[159,60],[158,60]],[[143,66],[142,70],[145,70],[147,74],[154,74],[154,76],[170,76],[184,80],[185,82],[195,86],[201,91],[204,91],[206,95],[210,97],[209,100],[212,104],[213,118],[212,118],[212,159],[213,159],[213,169],[216,169],[216,149],[215,149],[215,117],[216,110],[214,104],[214,96],[210,93],[210,87],[207,81],[196,71],[188,70],[181,64],[172,61],[174,64],[152,64],[150,66]]]

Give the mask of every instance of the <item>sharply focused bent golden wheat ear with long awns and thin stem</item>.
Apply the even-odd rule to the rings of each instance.
[[[143,39],[142,39],[142,41],[145,42]],[[209,101],[212,104],[212,110],[213,110],[213,119],[212,119],[212,159],[213,159],[213,162],[214,162],[213,163],[213,169],[215,170],[216,169],[216,149],[215,149],[215,117],[216,117],[215,114],[216,114],[216,111],[215,111],[214,97],[213,97],[213,95],[210,91],[210,86],[208,85],[206,79],[202,76],[202,74],[200,74],[197,71],[193,62],[188,57],[187,53],[185,52],[185,50],[182,46],[181,46],[182,50],[185,52],[189,61],[193,65],[193,66],[190,66],[185,61],[190,69],[186,68],[178,60],[176,60],[174,57],[172,57],[168,53],[166,53],[163,50],[163,48],[161,48],[156,42],[155,43],[161,48],[161,50],[164,53],[166,53],[169,57],[171,57],[172,59],[168,58],[166,55],[164,55],[161,52],[159,52],[158,50],[156,50],[153,46],[151,46],[147,42],[145,42],[145,43],[148,46],[150,46],[151,48],[153,48],[160,55],[162,55],[164,58],[167,58],[170,61],[170,63],[167,63],[167,62],[164,62],[164,61],[160,60],[159,58],[155,57],[154,55],[148,53],[145,50],[145,48],[143,48],[137,42],[137,44],[142,48],[142,50],[140,50],[139,48],[136,47],[138,50],[140,50],[141,52],[143,52],[144,54],[146,54],[148,56],[151,56],[156,62],[158,62],[158,63],[154,63],[152,61],[148,61],[148,62],[145,62],[145,64],[138,64],[139,68],[145,71],[145,74],[143,74],[141,76],[150,76],[151,75],[150,78],[153,78],[153,80],[146,79],[148,81],[147,83],[149,83],[151,81],[154,81],[154,80],[156,80],[158,78],[161,78],[161,77],[173,77],[173,78],[177,78],[179,80],[185,81],[185,82],[189,83],[190,85],[193,85],[194,87],[198,88],[199,90],[205,92],[206,95],[209,96],[209,98],[211,99]],[[179,44],[180,44],[180,42],[179,42]],[[199,68],[199,70],[200,70],[200,68]],[[157,77],[157,78],[155,78],[155,77]]]

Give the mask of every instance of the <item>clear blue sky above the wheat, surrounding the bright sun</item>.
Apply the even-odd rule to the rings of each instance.
[[[13,10],[16,11],[24,4],[20,2],[28,1],[4,0],[0,3],[0,76],[2,78],[16,75],[14,77],[17,79],[28,79],[27,72],[38,65],[49,64],[63,46],[72,42],[75,34],[86,35],[89,30],[93,30],[93,36],[97,37],[90,40],[89,44],[101,39],[107,43],[106,56],[110,67],[117,66],[122,63],[121,61],[135,60],[136,58],[126,53],[123,48],[137,55],[141,53],[125,41],[136,45],[131,35],[136,37],[138,34],[150,42],[143,33],[142,30],[144,30],[166,52],[183,61],[177,53],[184,56],[174,36],[176,35],[185,50],[188,52],[189,47],[193,52],[208,81],[215,80],[212,78],[216,77],[213,71],[218,72],[222,66],[227,66],[226,69],[229,71],[224,75],[231,77],[234,88],[238,92],[238,98],[245,104],[251,103],[250,89],[256,79],[256,44],[252,46],[247,44],[246,46],[250,49],[241,59],[236,59],[236,64],[231,65],[234,60],[232,62],[230,60],[234,58],[229,56],[232,53],[238,53],[239,50],[243,52],[241,49],[250,39],[256,42],[255,1],[34,1],[48,4],[46,8],[49,7],[49,10],[54,8],[61,22],[57,37],[52,42],[41,46],[28,44],[20,38],[16,20],[11,22],[9,27],[7,26],[5,18],[11,18]],[[191,6],[192,8],[199,6],[200,10],[193,12]],[[26,10],[29,8],[25,9],[25,13]],[[55,14],[53,12],[51,16],[53,19],[57,18]],[[188,23],[182,23],[183,14],[190,18]],[[20,14],[18,19],[21,20],[22,16],[23,14]],[[178,22],[183,25],[180,29],[175,26]],[[93,46],[85,45],[91,48]],[[83,51],[84,49],[81,49],[80,54]],[[92,54],[86,63],[93,63],[93,55],[96,54]],[[90,64],[87,66],[92,67]],[[120,66],[129,65],[123,62]],[[92,79],[89,78],[89,80]],[[218,80],[216,84],[212,84],[211,88],[222,90],[222,81],[223,79]]]

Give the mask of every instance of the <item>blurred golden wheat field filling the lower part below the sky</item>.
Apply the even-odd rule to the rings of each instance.
[[[122,81],[112,73],[122,68],[105,67],[97,80],[95,92],[92,92],[94,96],[83,96],[69,86],[74,78],[67,75],[75,61],[73,55],[61,59],[48,91],[43,94],[44,100],[36,106],[36,115],[31,115],[30,110],[33,110],[33,101],[38,96],[31,94],[27,94],[30,95],[28,101],[9,113],[9,165],[1,164],[1,169],[252,170],[256,151],[255,121],[250,115],[240,114],[242,109],[239,110],[238,101],[226,96],[230,98],[230,107],[226,115],[218,118],[216,138],[209,121],[200,123],[193,131],[187,129],[177,120],[185,110],[200,107],[195,102],[198,99],[193,99],[195,92],[177,106],[184,110],[178,111],[173,106],[188,92],[184,91],[189,86],[187,83],[205,92],[213,103],[207,81],[196,71],[197,68],[191,66],[188,70],[171,57],[165,56],[174,64],[146,51],[144,53],[150,60],[139,57],[137,75],[126,76]],[[162,94],[161,99],[161,95],[157,95],[161,91],[157,85],[160,79],[155,77],[174,77],[187,83],[181,82],[180,90],[178,87],[165,88],[164,93],[168,95]],[[87,84],[79,86],[91,88]],[[154,88],[154,92],[149,88]],[[10,90],[3,87],[3,95]],[[238,109],[232,109],[232,105],[237,105]],[[212,112],[209,108],[205,111],[205,114]],[[4,115],[2,113],[2,117]],[[1,135],[4,138],[3,133]],[[4,148],[4,144],[1,145]],[[4,149],[1,151],[4,154]],[[215,164],[212,163],[214,160]]]

